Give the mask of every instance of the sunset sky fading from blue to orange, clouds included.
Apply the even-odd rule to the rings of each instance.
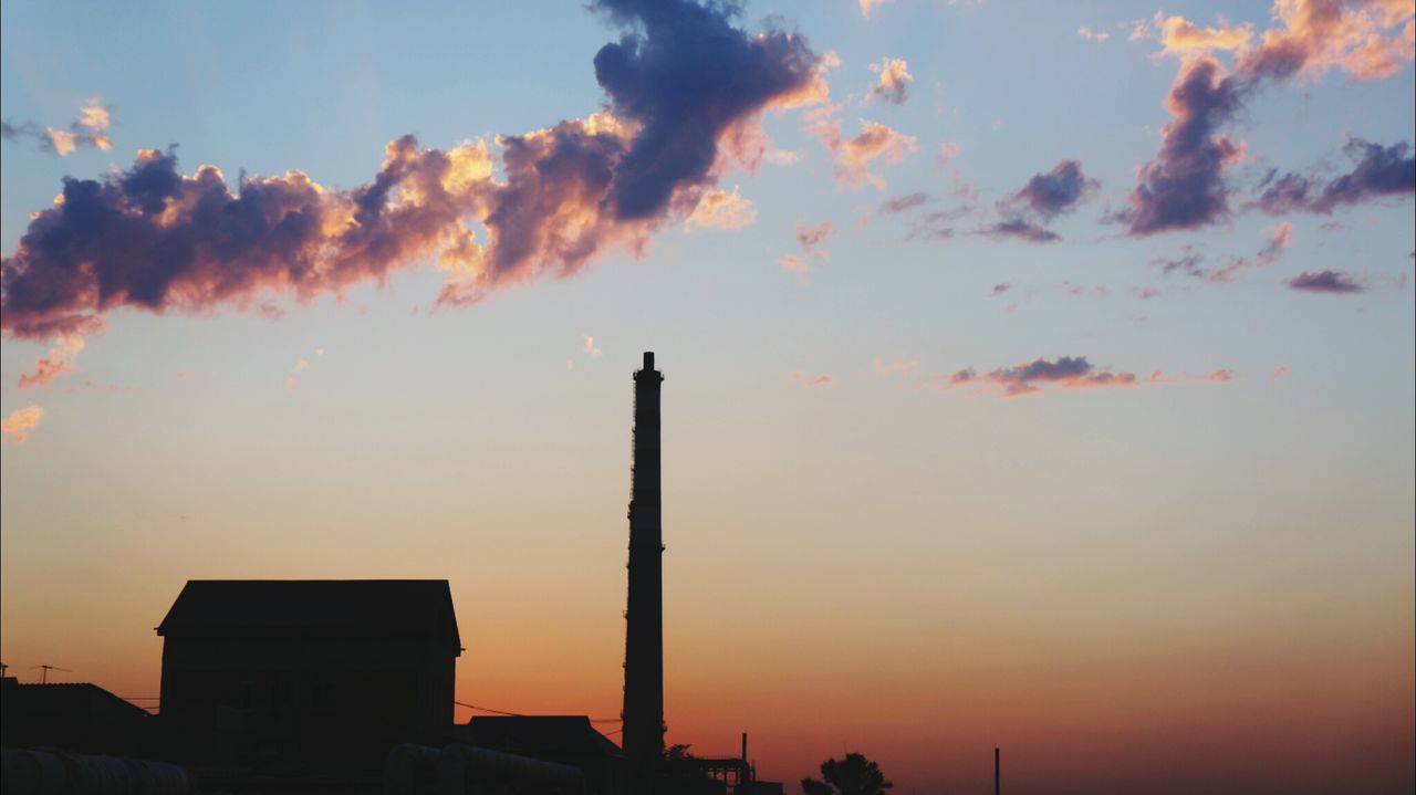
[[[0,658],[436,577],[613,719],[656,351],[670,743],[1410,791],[1413,13],[7,1]]]

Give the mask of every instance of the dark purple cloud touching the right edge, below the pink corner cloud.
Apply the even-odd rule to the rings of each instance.
[[[1405,141],[1383,147],[1354,137],[1342,151],[1355,161],[1347,174],[1323,184],[1294,171],[1270,171],[1255,205],[1269,214],[1301,209],[1330,215],[1341,205],[1416,194],[1416,157],[1408,157]]]

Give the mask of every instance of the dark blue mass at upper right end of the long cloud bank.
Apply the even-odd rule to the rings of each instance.
[[[712,181],[718,140],[769,105],[809,91],[818,58],[806,40],[732,25],[736,6],[596,0],[629,28],[595,55],[595,78],[620,117],[641,124],[610,182],[620,221],[657,218],[674,191]]]

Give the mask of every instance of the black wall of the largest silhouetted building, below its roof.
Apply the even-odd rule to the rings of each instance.
[[[163,730],[174,757],[218,767],[377,765],[447,734],[455,663],[423,637],[169,634]]]

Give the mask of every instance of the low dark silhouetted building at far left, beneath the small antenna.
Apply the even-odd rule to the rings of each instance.
[[[85,754],[136,754],[152,716],[98,685],[0,682],[0,737],[6,745]]]

